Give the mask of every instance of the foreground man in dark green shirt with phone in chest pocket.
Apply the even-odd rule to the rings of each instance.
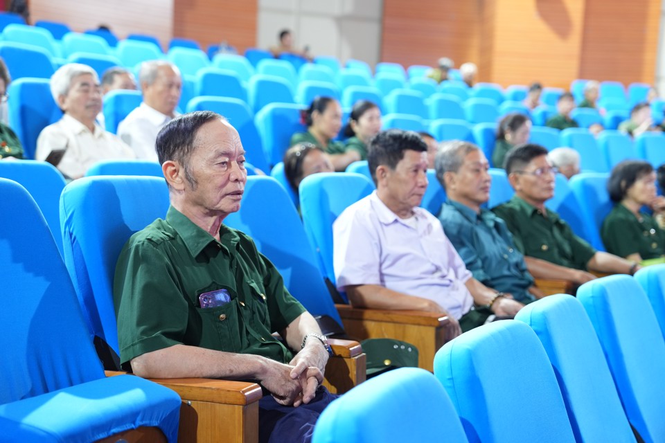
[[[223,224],[247,181],[238,132],[218,114],[195,112],[167,123],[156,149],[171,205],[118,258],[123,368],[256,380],[272,394],[260,400],[260,440],[307,441],[334,397],[320,386],[330,347],[251,238]]]

